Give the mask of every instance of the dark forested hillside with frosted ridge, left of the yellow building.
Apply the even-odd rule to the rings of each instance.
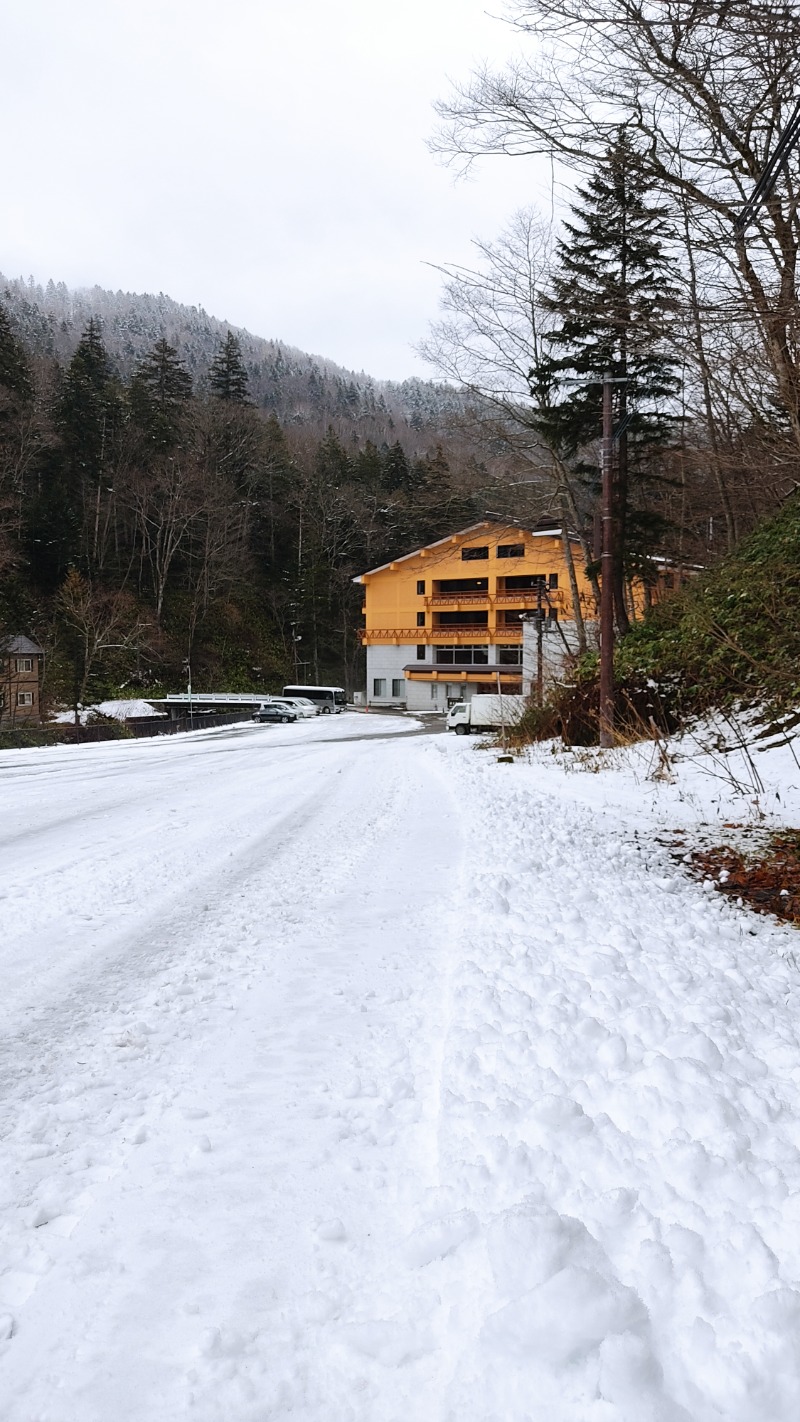
[[[9,284],[0,631],[43,643],[67,704],[189,668],[212,690],[360,685],[354,574],[477,509],[459,401],[166,297]]]

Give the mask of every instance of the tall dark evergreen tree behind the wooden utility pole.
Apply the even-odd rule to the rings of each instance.
[[[558,243],[557,270],[544,301],[557,320],[551,354],[531,371],[531,394],[540,431],[574,461],[600,435],[602,375],[610,373],[622,381],[614,387],[620,431],[614,600],[618,627],[627,631],[625,559],[628,570],[641,566],[661,532],[659,520],[647,509],[631,516],[631,482],[637,483],[641,503],[655,448],[669,437],[666,408],[678,390],[676,363],[668,350],[676,306],[675,269],[666,252],[665,209],[654,201],[642,161],[624,128],[587,186],[578,188],[578,199],[573,220],[564,223],[567,236]],[[580,384],[558,401],[558,380],[566,373]]]

